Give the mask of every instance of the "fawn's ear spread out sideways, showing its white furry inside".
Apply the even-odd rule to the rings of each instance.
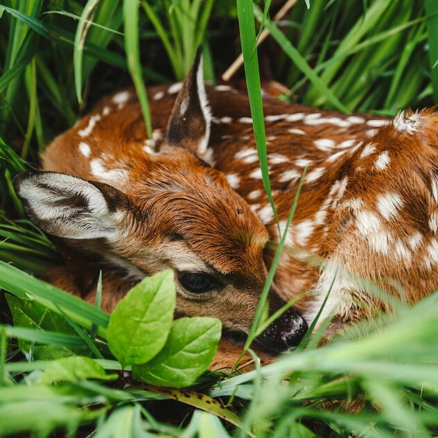
[[[128,198],[107,184],[54,172],[22,173],[14,179],[29,218],[53,236],[116,238]]]

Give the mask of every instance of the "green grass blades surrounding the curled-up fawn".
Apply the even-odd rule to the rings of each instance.
[[[24,216],[11,184],[17,173],[37,168],[46,143],[100,96],[134,82],[150,133],[143,83],[184,78],[198,44],[207,77],[218,81],[241,43],[245,66],[237,75],[246,77],[271,202],[258,56],[288,86],[285,100],[385,115],[437,103],[434,1],[299,0],[279,23],[270,20],[274,6],[265,6],[249,0],[3,1],[0,287],[58,315],[59,329],[46,329],[44,318],[12,326],[2,292],[0,435],[26,430],[35,436],[53,430],[87,436],[96,430],[98,437],[437,435],[437,293],[412,309],[400,304],[392,317],[354,327],[326,347],[315,349],[316,333],[272,365],[244,374],[209,373],[189,392],[175,389],[171,398],[180,403],[172,422],[163,417],[172,409],[169,395],[132,383],[129,374],[116,386],[103,380],[41,383],[53,357],[73,350],[121,374],[102,341],[108,315],[29,275],[40,274],[59,256]],[[272,37],[256,51],[259,23]],[[262,310],[263,299],[259,317]],[[358,414],[345,409],[353,401],[362,407]]]

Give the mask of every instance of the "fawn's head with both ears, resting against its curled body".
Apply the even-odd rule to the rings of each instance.
[[[19,175],[15,187],[44,231],[139,279],[172,268],[179,315],[218,317],[226,329],[247,333],[267,275],[268,232],[225,175],[202,160],[209,124],[198,54],[175,101],[165,141],[155,152],[132,159],[120,190],[54,172]],[[274,286],[269,304],[270,313],[284,304]],[[258,340],[281,351],[297,345],[306,328],[290,308]]]

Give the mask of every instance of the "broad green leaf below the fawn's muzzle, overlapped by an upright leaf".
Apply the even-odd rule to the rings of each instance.
[[[216,318],[177,319],[164,349],[150,362],[132,367],[132,371],[153,385],[189,386],[209,367],[218,349],[221,328]]]

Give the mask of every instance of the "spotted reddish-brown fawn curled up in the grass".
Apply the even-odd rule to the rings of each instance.
[[[176,98],[175,98],[176,96]],[[306,292],[259,336],[295,347],[331,287],[321,319],[343,324],[385,304],[376,281],[408,302],[438,286],[438,116],[344,115],[265,97],[268,164],[279,227],[263,190],[247,96],[204,85],[202,59],[184,83],[148,89],[155,148],[132,90],[103,98],[15,179],[44,231],[112,266],[103,306],[133,283],[175,271],[177,313],[247,333],[304,168],[307,173],[270,290],[270,312]],[[322,263],[309,263],[312,257]],[[54,270],[55,284],[78,292]],[[107,286],[105,286],[107,281]],[[82,290],[86,299],[94,291]]]

